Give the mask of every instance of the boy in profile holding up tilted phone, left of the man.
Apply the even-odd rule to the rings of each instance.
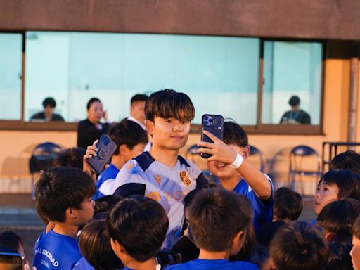
[[[136,158],[143,153],[143,150],[148,143],[148,135],[139,124],[131,120],[124,119],[120,123],[114,123],[110,126],[108,136],[117,144],[117,149],[111,159],[108,168],[98,176],[96,181],[96,194],[94,200],[101,198],[105,195],[113,194],[113,185],[117,173],[131,158]],[[97,148],[94,141],[92,146],[86,150],[86,158],[96,155]],[[84,165],[86,162],[84,163]],[[87,164],[86,164],[87,165]]]

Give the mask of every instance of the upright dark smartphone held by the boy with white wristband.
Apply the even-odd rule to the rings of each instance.
[[[221,115],[203,115],[201,120],[201,141],[207,141],[208,143],[214,143],[208,136],[203,134],[203,131],[209,131],[214,136],[217,136],[222,141],[224,131],[224,117]],[[201,153],[203,158],[210,158],[209,154]]]

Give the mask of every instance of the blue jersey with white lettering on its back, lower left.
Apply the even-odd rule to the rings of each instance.
[[[74,238],[51,230],[37,243],[32,265],[37,270],[72,270],[81,257]]]

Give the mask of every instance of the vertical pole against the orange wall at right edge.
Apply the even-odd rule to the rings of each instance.
[[[359,58],[350,59],[349,125],[347,141],[356,141],[357,95],[359,89]],[[354,146],[348,149],[354,150]]]

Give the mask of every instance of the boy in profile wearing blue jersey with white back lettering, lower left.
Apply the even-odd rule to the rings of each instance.
[[[93,217],[94,193],[94,182],[80,169],[57,167],[41,173],[35,197],[41,213],[54,222],[54,227],[39,239],[34,250],[33,266],[37,270],[70,270],[82,257],[77,231]]]

